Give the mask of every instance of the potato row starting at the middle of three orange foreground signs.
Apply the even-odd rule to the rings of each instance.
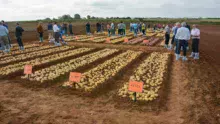
[[[142,52],[126,51],[118,56],[105,61],[103,64],[83,73],[76,89],[84,91],[93,91],[95,88],[105,83],[107,80],[116,76],[116,74],[125,68],[134,59],[140,56]],[[65,82],[63,86],[72,87],[72,82]]]

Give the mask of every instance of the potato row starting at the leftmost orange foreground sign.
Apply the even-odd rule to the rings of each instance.
[[[118,50],[116,49],[104,49],[60,64],[52,65],[48,68],[38,70],[33,74],[31,74],[30,80],[39,81],[41,83],[45,83],[46,81],[53,81],[55,79],[60,78],[61,76],[64,76],[70,71],[73,71],[79,67],[89,65],[92,62],[95,62],[101,58],[112,55],[116,52],[118,52]],[[27,79],[28,76],[26,75],[23,76],[22,78]]]

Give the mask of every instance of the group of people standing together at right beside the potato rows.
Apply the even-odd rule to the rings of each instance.
[[[170,33],[173,32],[173,37],[171,45],[169,46]],[[165,48],[173,49],[174,47],[176,60],[179,60],[182,57],[183,61],[187,61],[186,53],[189,49],[189,40],[192,38],[192,53],[189,57],[194,58],[195,60],[199,59],[199,40],[200,40],[200,30],[197,25],[193,25],[191,30],[190,26],[186,22],[181,24],[177,22],[175,26],[171,29],[171,25],[168,24],[165,27]],[[180,52],[183,50],[183,56],[180,56]]]

